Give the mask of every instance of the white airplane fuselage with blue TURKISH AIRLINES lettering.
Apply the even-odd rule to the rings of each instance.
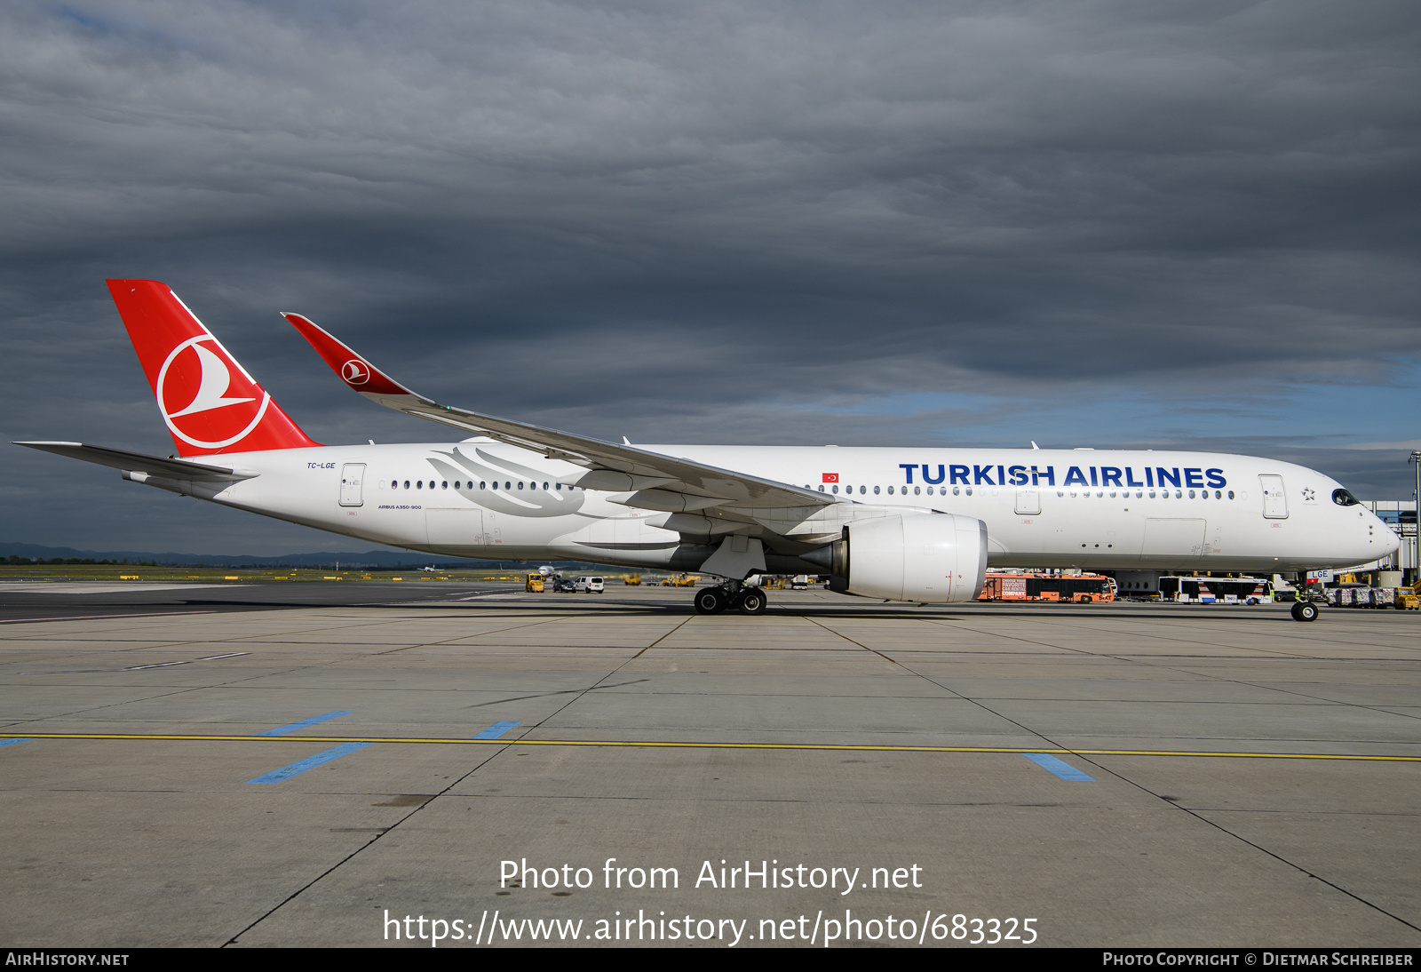
[[[885,509],[976,517],[986,523],[993,567],[1296,571],[1367,563],[1397,543],[1364,506],[1337,504],[1340,486],[1327,476],[1252,456],[641,448],[816,492],[837,489],[843,502],[863,504],[865,517]],[[622,495],[570,486],[585,475],[580,466],[492,441],[225,453],[222,462],[260,475],[225,489],[185,483],[180,492],[412,550],[695,570],[713,543],[686,543],[662,527],[666,513],[614,502]]]

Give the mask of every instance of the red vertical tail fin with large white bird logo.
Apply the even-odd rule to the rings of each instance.
[[[317,446],[196,314],[156,280],[108,280],[182,456]]]

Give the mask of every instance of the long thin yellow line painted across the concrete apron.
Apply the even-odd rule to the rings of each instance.
[[[1211,756],[1215,759],[1340,759],[1421,763],[1421,756],[1360,753],[1231,753],[1192,749],[1060,749],[1052,746],[871,746],[851,743],[651,742],[635,739],[421,739],[406,736],[205,736],[119,732],[0,732],[0,739],[128,739],[136,742],[415,743],[439,746],[624,746],[631,749],[770,749],[871,753],[1067,753],[1077,756]]]

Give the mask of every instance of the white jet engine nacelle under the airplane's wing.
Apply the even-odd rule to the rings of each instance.
[[[831,587],[890,601],[972,601],[986,580],[986,523],[951,513],[855,520],[833,544]]]

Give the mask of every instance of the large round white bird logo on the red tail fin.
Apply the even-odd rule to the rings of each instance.
[[[169,351],[156,385],[163,422],[175,436],[199,449],[240,442],[261,423],[271,404],[266,389],[210,334],[188,338]]]

